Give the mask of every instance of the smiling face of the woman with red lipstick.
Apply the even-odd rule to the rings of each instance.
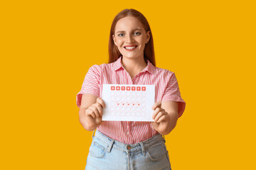
[[[137,18],[127,16],[117,21],[112,38],[123,57],[136,59],[144,57],[144,47],[150,35]]]

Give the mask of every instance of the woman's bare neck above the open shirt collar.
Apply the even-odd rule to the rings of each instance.
[[[146,62],[144,57],[139,57],[137,59],[129,59],[127,57],[122,57],[122,65],[124,69],[129,73],[129,75],[133,78],[139,72],[146,67]]]

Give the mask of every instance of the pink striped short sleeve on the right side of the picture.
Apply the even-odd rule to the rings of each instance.
[[[179,91],[178,88],[178,81],[176,79],[176,76],[174,74],[174,72],[171,72],[171,77],[169,78],[169,81],[166,85],[166,89],[164,91],[164,95],[162,98],[162,102],[163,101],[176,101],[178,102],[178,118],[181,117],[181,115],[183,114],[185,107],[186,107],[186,103],[185,101],[183,101],[183,99],[181,98],[181,93]]]

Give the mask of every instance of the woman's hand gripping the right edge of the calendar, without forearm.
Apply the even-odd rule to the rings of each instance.
[[[154,110],[152,115],[154,122],[151,122],[151,125],[157,132],[162,134],[169,126],[169,121],[171,119],[170,115],[164,110],[164,108],[161,108],[161,102],[154,103],[152,109]]]

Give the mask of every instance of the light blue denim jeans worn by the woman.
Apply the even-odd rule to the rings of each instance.
[[[103,135],[92,135],[85,170],[171,170],[164,138],[158,134],[149,140],[127,145]]]

